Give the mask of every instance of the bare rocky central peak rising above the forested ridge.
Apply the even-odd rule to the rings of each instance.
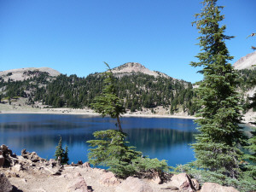
[[[112,72],[115,74],[116,77],[123,77],[124,75],[143,73],[152,75],[154,77],[170,78],[165,73],[151,71],[148,68],[144,67],[142,64],[137,62],[126,62],[124,65],[113,68]]]

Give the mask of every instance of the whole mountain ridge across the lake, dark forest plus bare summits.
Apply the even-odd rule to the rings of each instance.
[[[161,109],[163,113],[195,113],[196,106],[192,103],[195,93],[189,82],[172,79],[136,62],[115,67],[113,73],[117,94],[131,112],[150,108],[151,113]],[[102,73],[79,78],[49,68],[9,70],[0,73],[0,96],[4,103],[14,105],[15,100],[26,99],[34,108],[90,108],[95,97],[102,93],[104,79]]]

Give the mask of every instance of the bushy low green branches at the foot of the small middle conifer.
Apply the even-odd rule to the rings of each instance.
[[[142,152],[134,150],[125,142],[126,134],[108,130],[93,133],[98,140],[90,140],[88,159],[94,166],[108,166],[118,177],[147,175],[147,172],[167,172],[165,160],[143,158]]]

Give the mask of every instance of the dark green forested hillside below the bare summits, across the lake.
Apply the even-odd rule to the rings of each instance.
[[[102,73],[86,78],[63,74],[50,78],[47,73],[40,73],[23,81],[4,82],[2,79],[0,89],[5,98],[29,97],[29,104],[42,102],[53,108],[84,108],[90,107],[95,96],[100,95],[104,78]],[[170,109],[170,113],[177,110],[195,113],[192,84],[183,80],[133,73],[116,78],[116,84],[118,96],[131,112],[163,106]]]

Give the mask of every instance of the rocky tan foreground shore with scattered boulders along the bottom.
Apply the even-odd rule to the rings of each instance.
[[[61,166],[26,149],[16,155],[6,145],[0,147],[0,167],[1,192],[238,192],[217,183],[200,184],[186,173],[168,174],[164,180],[158,175],[120,179],[88,162]]]

